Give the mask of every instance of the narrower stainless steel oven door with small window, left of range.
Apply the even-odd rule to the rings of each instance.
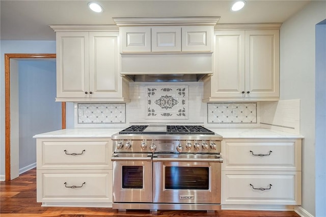
[[[113,154],[113,202],[152,202],[152,154]]]

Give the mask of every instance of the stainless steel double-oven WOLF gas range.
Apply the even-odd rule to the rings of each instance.
[[[112,140],[114,209],[221,208],[221,135],[202,126],[134,125]]]

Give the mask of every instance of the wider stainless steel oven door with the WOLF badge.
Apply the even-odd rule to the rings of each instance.
[[[153,202],[221,204],[220,155],[153,156]]]

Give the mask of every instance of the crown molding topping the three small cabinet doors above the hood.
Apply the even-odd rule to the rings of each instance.
[[[220,17],[114,17],[118,26],[216,25]]]

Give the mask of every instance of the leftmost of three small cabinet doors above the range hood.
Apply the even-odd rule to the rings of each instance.
[[[122,52],[150,52],[151,28],[149,26],[120,27]]]

